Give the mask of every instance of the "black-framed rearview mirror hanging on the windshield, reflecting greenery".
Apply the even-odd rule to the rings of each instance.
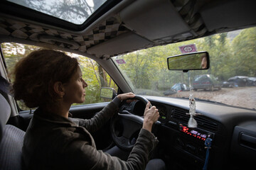
[[[193,52],[183,55],[175,55],[167,58],[169,70],[198,70],[210,67],[210,57],[208,52]]]

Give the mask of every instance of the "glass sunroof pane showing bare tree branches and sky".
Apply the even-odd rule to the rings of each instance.
[[[82,24],[107,0],[8,0],[50,16]]]

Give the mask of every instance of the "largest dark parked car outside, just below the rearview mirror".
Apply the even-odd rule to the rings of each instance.
[[[197,91],[198,89],[210,91],[213,91],[214,89],[220,90],[221,84],[213,75],[203,74],[196,77],[193,81],[193,90]]]

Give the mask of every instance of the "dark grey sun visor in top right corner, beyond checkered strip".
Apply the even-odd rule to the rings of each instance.
[[[256,24],[255,6],[255,0],[213,1],[200,13],[209,31],[242,28]]]

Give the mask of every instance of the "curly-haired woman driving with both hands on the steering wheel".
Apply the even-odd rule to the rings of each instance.
[[[134,94],[119,94],[90,120],[68,118],[73,103],[85,101],[86,82],[78,61],[54,50],[37,50],[21,59],[14,70],[13,92],[36,108],[23,142],[26,169],[145,169],[156,146],[152,125],[155,106],[144,111],[144,123],[127,161],[96,149],[90,135],[117,114],[119,103]],[[156,163],[158,164],[158,163]],[[164,166],[161,166],[161,169]]]

